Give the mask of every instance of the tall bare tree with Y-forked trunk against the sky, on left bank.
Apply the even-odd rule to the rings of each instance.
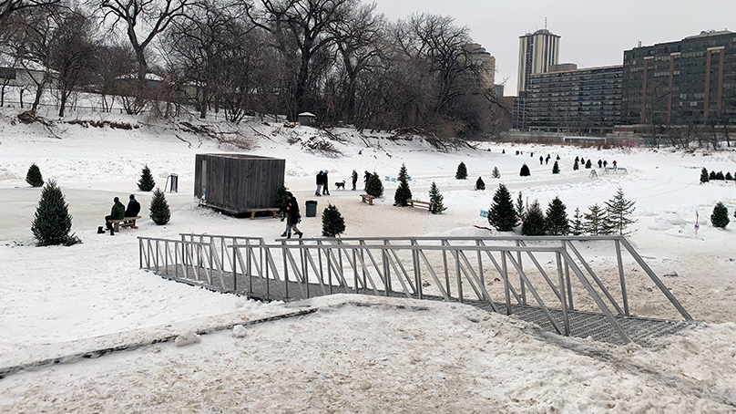
[[[138,61],[138,91],[136,108],[144,106],[144,91],[148,84],[146,52],[151,42],[176,19],[185,16],[190,0],[101,0],[105,17],[114,18],[113,26],[125,27],[130,46]]]

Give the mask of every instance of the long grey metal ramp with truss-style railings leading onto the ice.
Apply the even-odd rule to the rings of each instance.
[[[622,236],[281,239],[267,244],[261,238],[181,234],[181,240],[138,241],[143,269],[264,300],[351,293],[462,302],[513,314],[559,335],[618,344],[646,345],[694,326]],[[592,250],[602,267],[594,269],[580,250]],[[629,264],[643,274],[626,274]],[[630,311],[627,283],[642,277],[659,287],[672,315],[684,321]]]

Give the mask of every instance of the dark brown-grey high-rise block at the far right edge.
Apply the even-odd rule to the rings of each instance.
[[[736,33],[624,51],[624,124],[736,124]]]

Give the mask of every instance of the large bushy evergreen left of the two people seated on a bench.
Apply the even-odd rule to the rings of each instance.
[[[36,207],[31,232],[38,240],[37,245],[49,246],[81,243],[74,234],[69,235],[72,229],[72,216],[66,204],[64,194],[56,186],[56,181],[49,180],[41,191],[41,200]]]

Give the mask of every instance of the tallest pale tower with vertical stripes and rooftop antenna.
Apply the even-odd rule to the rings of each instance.
[[[526,92],[532,74],[547,72],[550,65],[557,65],[558,58],[559,36],[547,28],[519,36],[519,78],[516,92]]]

